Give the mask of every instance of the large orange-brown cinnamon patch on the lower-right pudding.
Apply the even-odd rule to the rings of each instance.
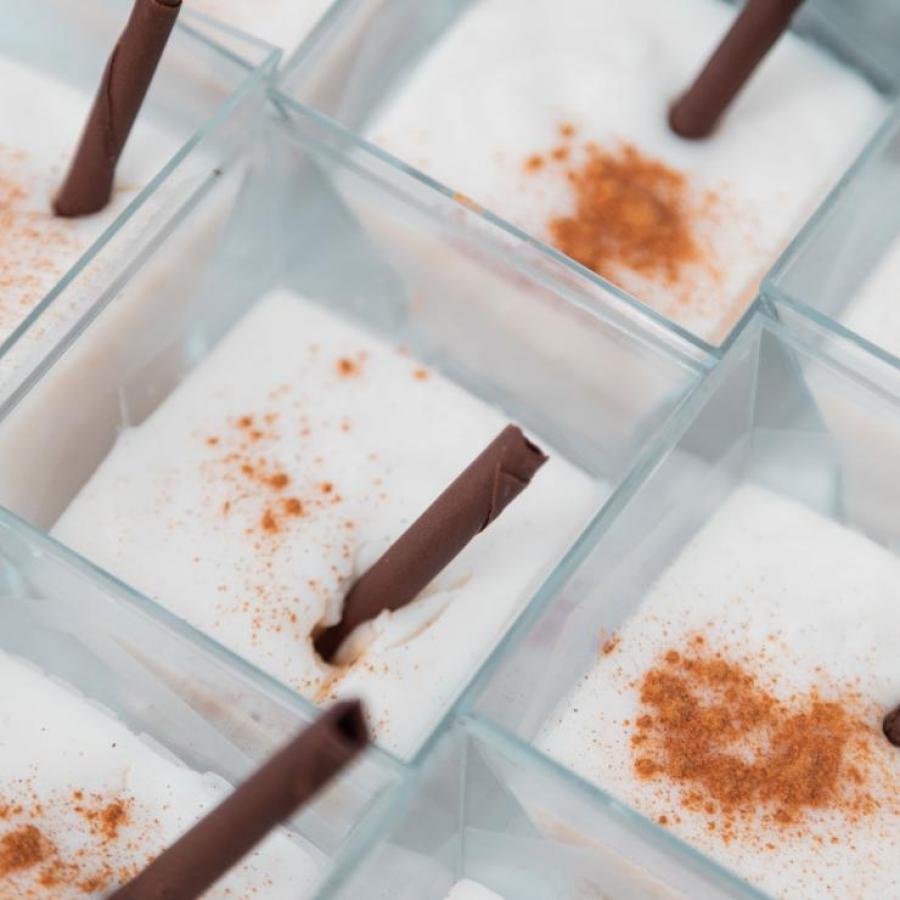
[[[725,841],[741,819],[786,828],[812,810],[855,820],[878,809],[871,729],[851,694],[780,700],[697,636],[645,673],[640,699],[644,714],[631,739],[636,774],[673,781],[682,807],[709,815],[710,830]]]

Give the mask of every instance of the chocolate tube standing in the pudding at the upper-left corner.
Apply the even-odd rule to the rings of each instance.
[[[181,0],[135,0],[106,64],[69,174],[53,201],[58,216],[87,216],[109,203],[116,164],[180,8]]]

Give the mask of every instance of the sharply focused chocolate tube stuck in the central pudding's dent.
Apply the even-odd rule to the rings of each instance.
[[[546,461],[519,428],[507,425],[353,585],[341,621],[315,639],[320,656],[332,659],[357,626],[414,600],[518,497]]]

